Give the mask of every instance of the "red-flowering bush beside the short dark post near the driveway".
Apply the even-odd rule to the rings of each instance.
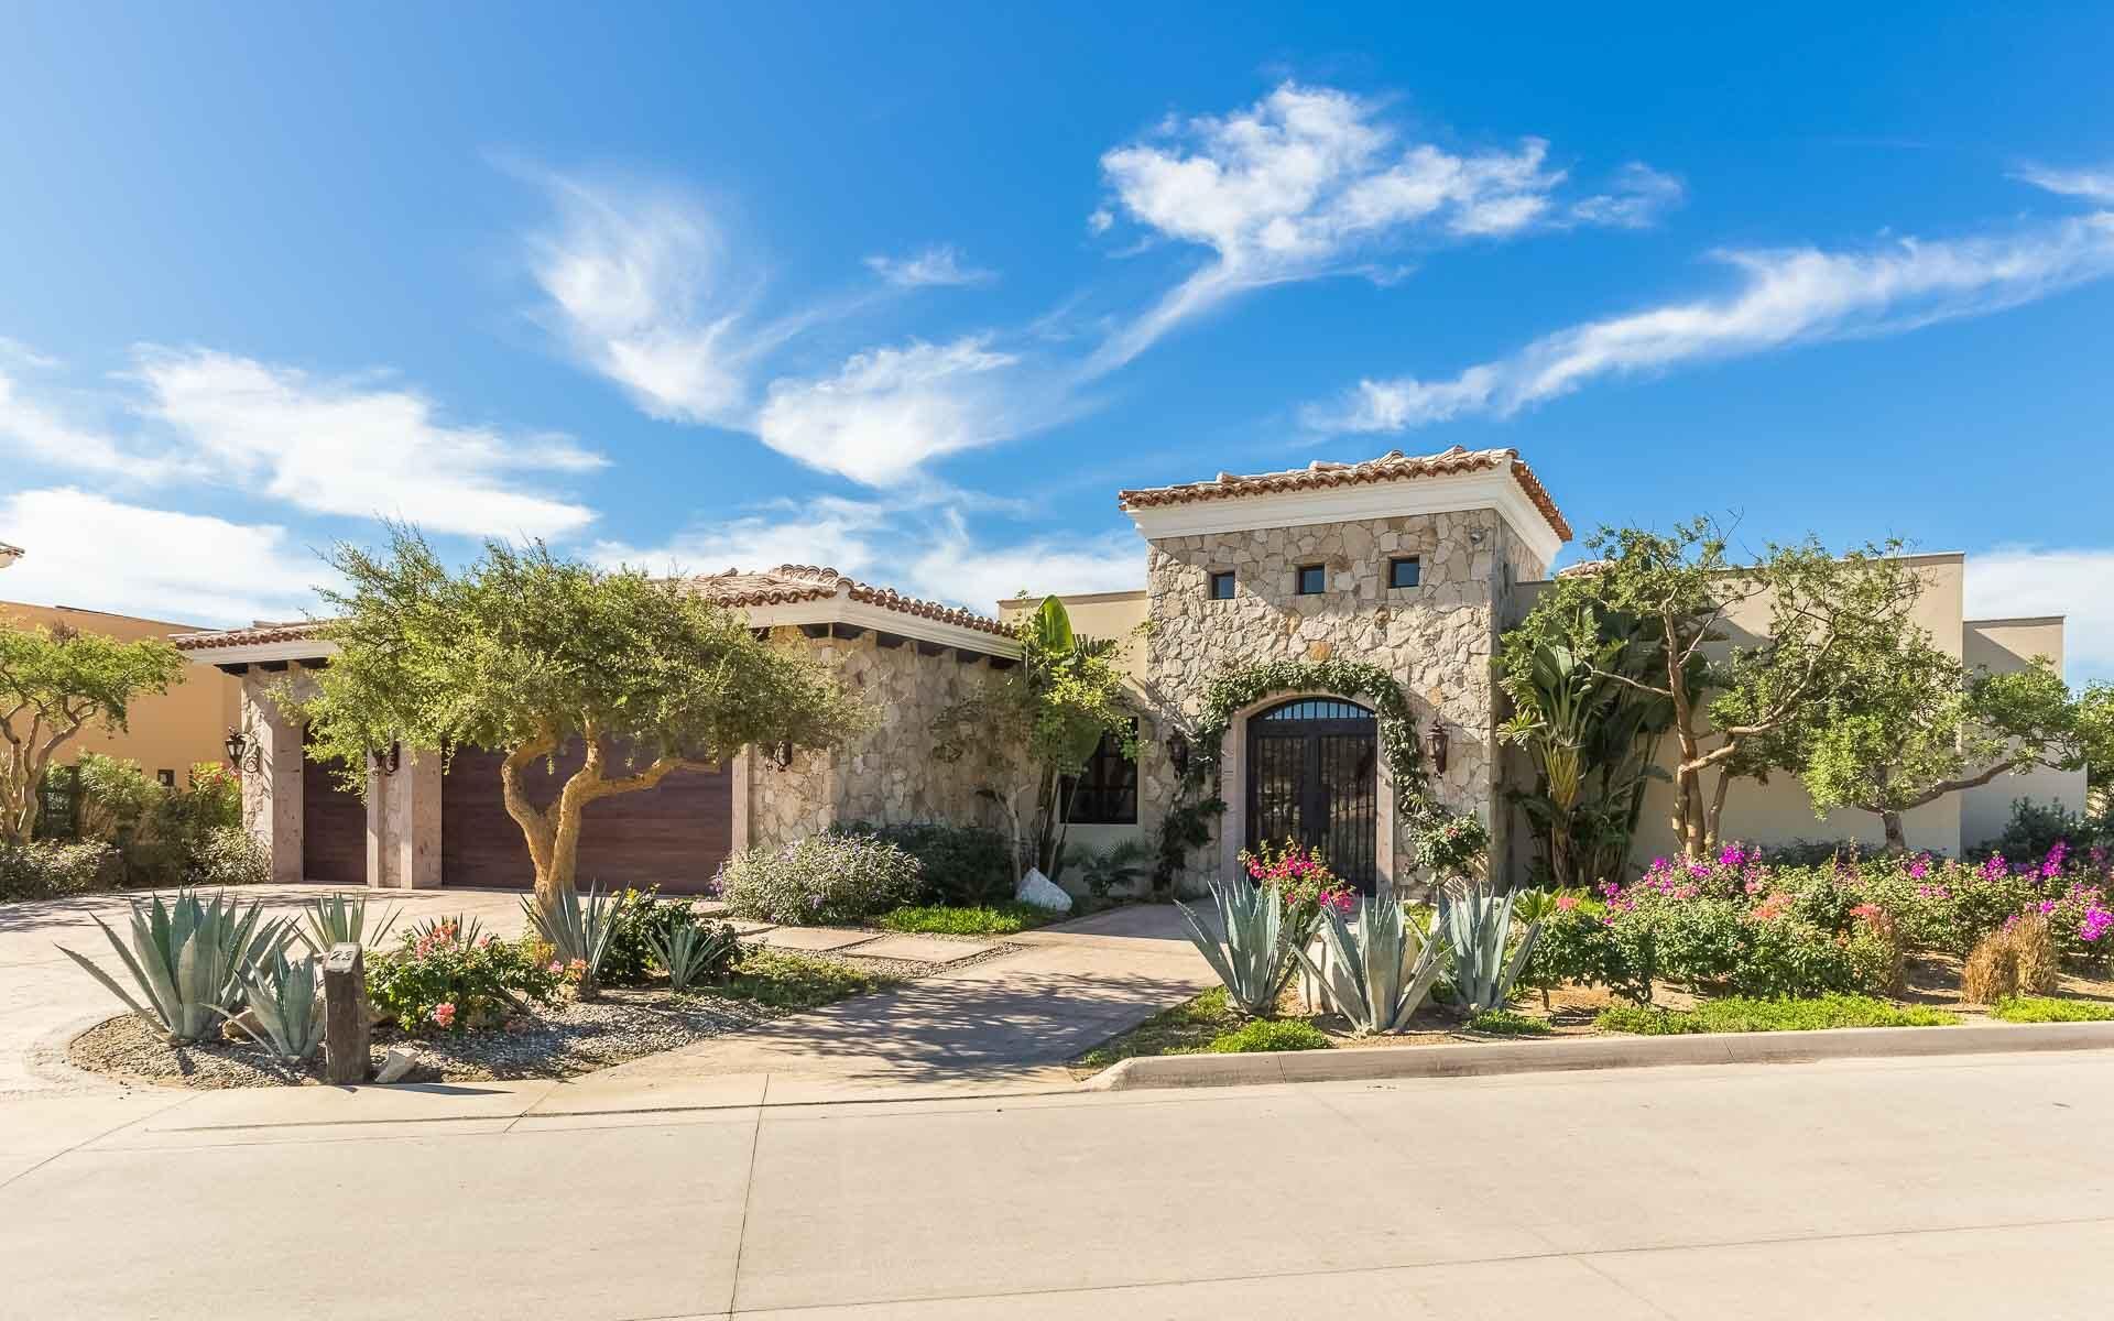
[[[368,960],[368,1000],[404,1031],[499,1027],[516,1004],[552,1004],[564,964],[537,941],[499,941],[461,919],[421,924]]]

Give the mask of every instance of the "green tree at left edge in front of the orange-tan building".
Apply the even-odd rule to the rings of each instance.
[[[53,755],[89,725],[123,731],[131,704],[167,693],[184,653],[70,626],[0,628],[0,843],[27,843]]]

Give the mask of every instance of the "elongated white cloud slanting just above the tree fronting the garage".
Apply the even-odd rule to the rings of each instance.
[[[605,463],[564,435],[446,425],[416,391],[328,380],[205,349],[148,349],[140,412],[241,490],[311,514],[406,518],[433,533],[560,537],[594,509],[524,484]]]

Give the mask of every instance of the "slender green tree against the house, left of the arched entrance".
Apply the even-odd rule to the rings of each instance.
[[[1118,645],[1072,632],[1072,615],[1055,596],[1023,617],[1013,636],[1021,664],[939,714],[934,757],[979,757],[985,797],[1015,816],[1015,799],[1034,790],[1027,860],[1055,879],[1063,867],[1065,818],[1076,778],[1101,738],[1114,738],[1125,757],[1137,755],[1137,729],[1125,702]],[[1025,784],[1019,784],[1025,765]],[[998,780],[1000,784],[989,784]]]

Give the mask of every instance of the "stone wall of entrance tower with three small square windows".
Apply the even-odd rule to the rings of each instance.
[[[1418,556],[1416,588],[1387,585],[1393,556]],[[1328,566],[1328,592],[1296,594],[1294,571],[1317,562]],[[1209,600],[1207,575],[1226,569],[1237,577],[1235,598]],[[1148,700],[1163,723],[1192,725],[1205,685],[1226,668],[1330,657],[1378,664],[1402,683],[1418,731],[1433,717],[1448,731],[1448,765],[1431,776],[1433,797],[1501,833],[1490,657],[1514,609],[1509,583],[1539,573],[1533,552],[1488,509],[1167,537],[1152,543],[1148,560]],[[1154,740],[1139,767],[1148,820],[1165,812],[1175,788],[1163,744]],[[1232,829],[1243,786],[1220,793],[1235,805],[1224,818]],[[1399,816],[1395,854],[1412,854]],[[1395,875],[1395,883],[1410,888],[1410,877]]]

